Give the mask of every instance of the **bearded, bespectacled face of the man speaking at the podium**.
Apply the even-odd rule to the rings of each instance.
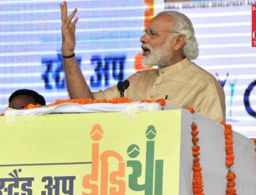
[[[143,65],[166,67],[172,62],[172,35],[170,27],[174,20],[170,16],[158,15],[154,17],[141,37],[143,50]]]

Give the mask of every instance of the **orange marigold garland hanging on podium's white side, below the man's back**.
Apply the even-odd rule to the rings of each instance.
[[[234,151],[233,151],[233,132],[232,126],[230,124],[226,124],[225,122],[220,122],[224,126],[224,136],[225,136],[225,143],[226,143],[226,167],[228,168],[228,173],[226,174],[227,181],[227,189],[226,195],[236,195],[236,174],[230,168],[234,164]]]

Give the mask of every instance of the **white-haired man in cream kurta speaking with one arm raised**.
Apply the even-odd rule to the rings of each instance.
[[[72,99],[112,99],[120,97],[117,86],[92,92],[75,59],[75,8],[67,15],[61,7],[62,54],[67,89]],[[75,17],[75,18],[74,18]],[[158,69],[139,71],[127,78],[125,96],[133,101],[168,98],[167,105],[186,108],[220,122],[225,120],[225,96],[213,75],[192,63],[199,54],[190,19],[177,11],[163,11],[154,17],[140,38],[143,65]]]

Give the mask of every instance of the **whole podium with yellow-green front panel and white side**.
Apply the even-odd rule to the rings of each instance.
[[[193,121],[204,194],[226,194],[224,126],[183,109],[1,117],[0,194],[193,194]],[[255,145],[233,141],[236,192],[255,195]]]

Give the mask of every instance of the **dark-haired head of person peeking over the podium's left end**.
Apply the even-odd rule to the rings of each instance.
[[[9,97],[9,108],[23,109],[28,104],[44,106],[46,102],[42,95],[30,89],[19,89]]]

